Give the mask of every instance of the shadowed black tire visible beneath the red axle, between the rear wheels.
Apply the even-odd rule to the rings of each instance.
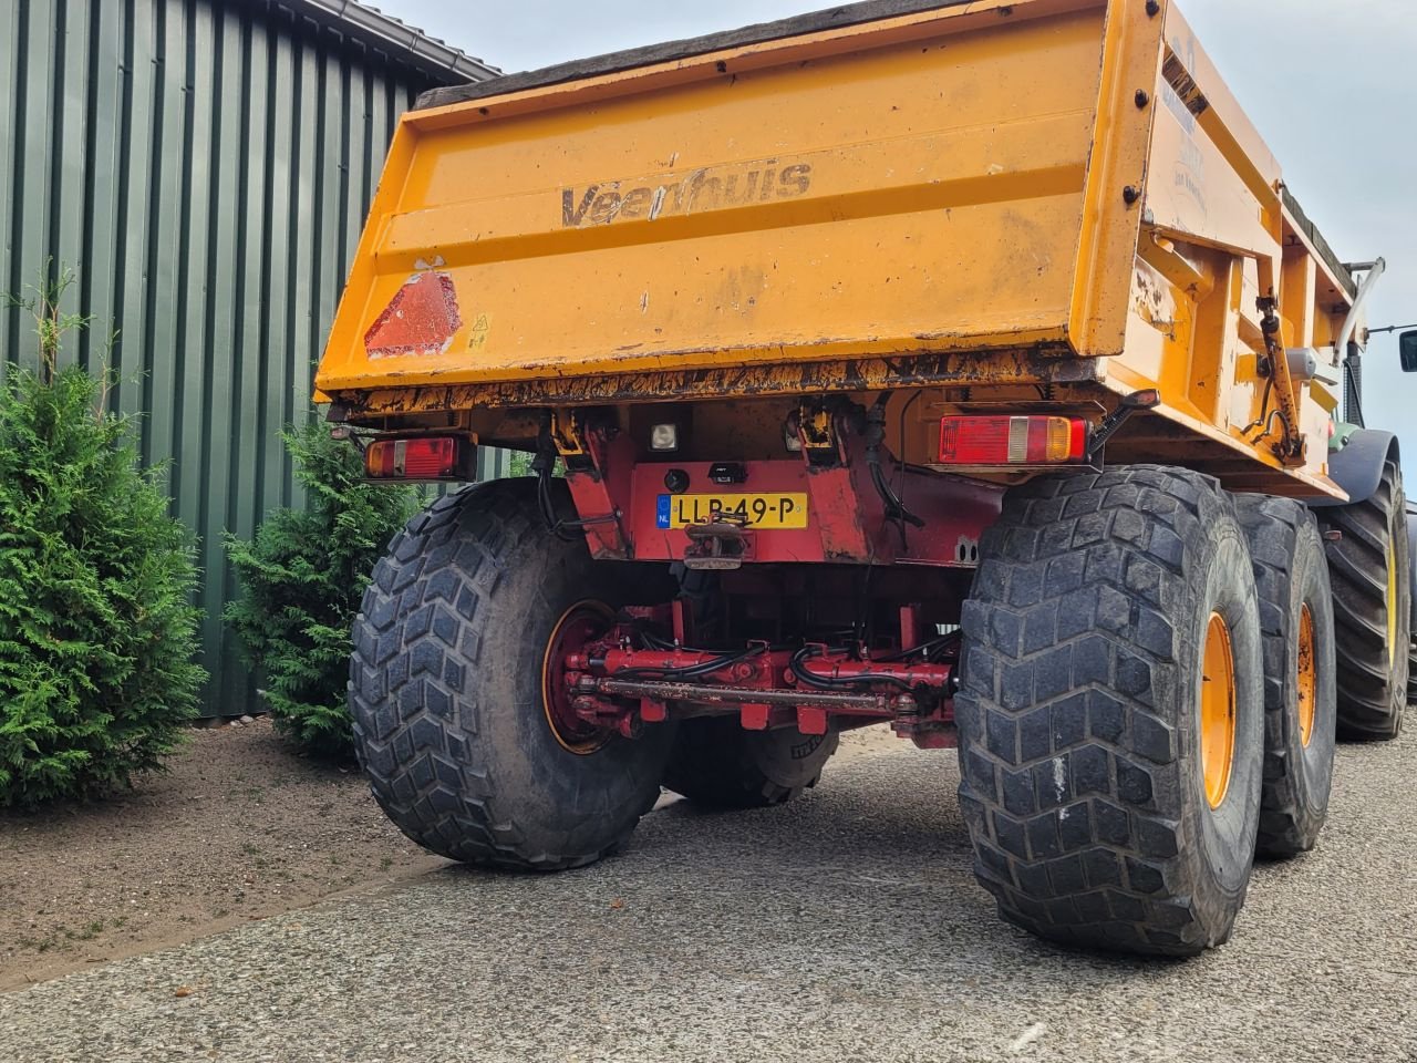
[[[781,805],[818,784],[839,741],[835,730],[748,731],[735,716],[684,720],[665,772],[665,788],[710,808]]]

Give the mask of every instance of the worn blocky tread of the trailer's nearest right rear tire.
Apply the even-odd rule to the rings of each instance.
[[[1158,794],[1182,755],[1168,709],[1185,543],[1221,516],[1212,478],[1119,466],[1016,488],[985,533],[962,617],[959,802],[1009,921],[1129,952],[1220,943],[1187,903],[1187,838]]]

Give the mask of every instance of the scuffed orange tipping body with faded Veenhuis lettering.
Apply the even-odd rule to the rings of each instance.
[[[942,415],[1155,387],[1117,459],[1338,495],[1355,296],[1175,4],[877,0],[429,94],[316,387],[512,446],[691,404],[720,458],[891,391],[918,463]]]

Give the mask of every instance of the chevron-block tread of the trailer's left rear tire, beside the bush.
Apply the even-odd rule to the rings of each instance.
[[[612,853],[649,812],[657,788],[622,816],[609,843],[578,849],[570,818],[558,838],[529,839],[499,811],[476,760],[489,598],[519,543],[537,536],[531,485],[493,480],[446,495],[388,546],[354,621],[349,702],[354,746],[374,798],[414,842],[453,860],[504,870],[580,867]],[[604,811],[604,809],[601,809]]]

